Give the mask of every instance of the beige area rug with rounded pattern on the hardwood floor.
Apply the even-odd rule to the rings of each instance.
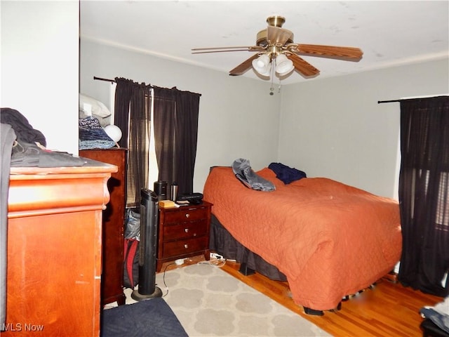
[[[161,272],[156,285],[191,337],[330,336],[215,265]]]

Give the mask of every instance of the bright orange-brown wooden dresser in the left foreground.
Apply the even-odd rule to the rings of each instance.
[[[2,337],[100,335],[102,211],[116,170],[11,168]]]

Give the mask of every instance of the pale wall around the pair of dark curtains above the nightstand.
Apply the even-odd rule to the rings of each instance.
[[[194,192],[202,192],[210,166],[238,158],[262,169],[276,161],[279,102],[269,82],[206,70],[81,39],[80,91],[109,103],[109,82],[123,77],[165,88],[201,93]],[[152,183],[152,182],[150,182]]]

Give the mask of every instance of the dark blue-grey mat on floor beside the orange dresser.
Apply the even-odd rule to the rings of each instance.
[[[163,298],[141,300],[102,311],[102,337],[188,336]]]

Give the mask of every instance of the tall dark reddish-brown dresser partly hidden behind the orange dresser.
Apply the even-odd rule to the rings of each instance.
[[[103,212],[103,265],[101,303],[125,304],[123,293],[123,231],[126,222],[126,161],[128,151],[113,147],[107,150],[80,150],[79,156],[118,167],[107,182],[111,199]]]

